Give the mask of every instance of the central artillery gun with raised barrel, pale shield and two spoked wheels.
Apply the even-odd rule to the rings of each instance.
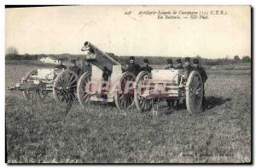
[[[85,72],[78,81],[79,104],[90,102],[114,102],[118,109],[129,109],[134,104],[133,82],[136,76],[125,72],[125,67],[103,53],[90,42],[84,42],[86,60],[92,64],[91,72]]]

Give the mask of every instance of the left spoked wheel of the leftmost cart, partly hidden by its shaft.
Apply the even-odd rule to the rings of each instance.
[[[22,79],[21,83],[28,84],[33,83],[33,77],[37,76],[38,70],[31,70],[26,74],[26,76]],[[43,100],[47,96],[48,92],[44,92],[40,89],[40,87],[34,87],[34,88],[27,88],[24,91],[22,91],[22,94],[26,101],[30,101],[30,103],[36,103],[38,101]]]

